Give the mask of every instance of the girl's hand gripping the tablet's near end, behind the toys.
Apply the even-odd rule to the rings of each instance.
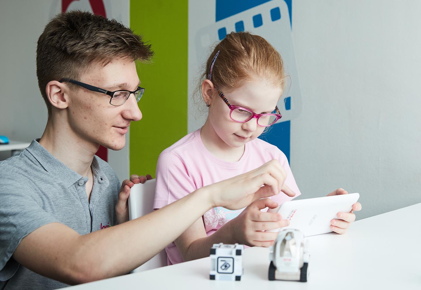
[[[269,207],[274,209],[278,204],[272,199],[259,199],[246,207],[240,215],[229,222],[236,242],[248,246],[269,247],[278,236],[278,232],[267,232],[289,225],[282,220],[279,213],[262,212]],[[228,225],[228,224],[227,224]]]

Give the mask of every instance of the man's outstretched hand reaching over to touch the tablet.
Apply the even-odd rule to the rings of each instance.
[[[279,161],[273,159],[242,175],[203,187],[207,189],[211,207],[241,209],[253,201],[273,196],[280,191],[295,196],[284,185],[287,174]]]

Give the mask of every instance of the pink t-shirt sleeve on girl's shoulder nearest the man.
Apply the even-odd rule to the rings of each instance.
[[[197,189],[183,161],[168,152],[159,156],[154,209],[160,209]]]

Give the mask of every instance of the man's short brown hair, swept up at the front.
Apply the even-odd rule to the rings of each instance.
[[[80,73],[93,63],[105,66],[116,58],[147,62],[152,55],[151,46],[141,36],[115,19],[78,10],[59,13],[45,25],[37,45],[38,86],[48,115],[48,82],[78,80]]]

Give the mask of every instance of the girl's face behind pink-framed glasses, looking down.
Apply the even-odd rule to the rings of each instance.
[[[256,114],[272,113],[281,97],[282,89],[263,81],[248,81],[234,90],[224,90],[231,105],[240,106]],[[215,89],[216,90],[216,89]],[[265,129],[257,124],[257,118],[245,123],[233,121],[230,109],[217,93],[213,94],[208,121],[218,137],[230,147],[238,148],[256,139]]]

